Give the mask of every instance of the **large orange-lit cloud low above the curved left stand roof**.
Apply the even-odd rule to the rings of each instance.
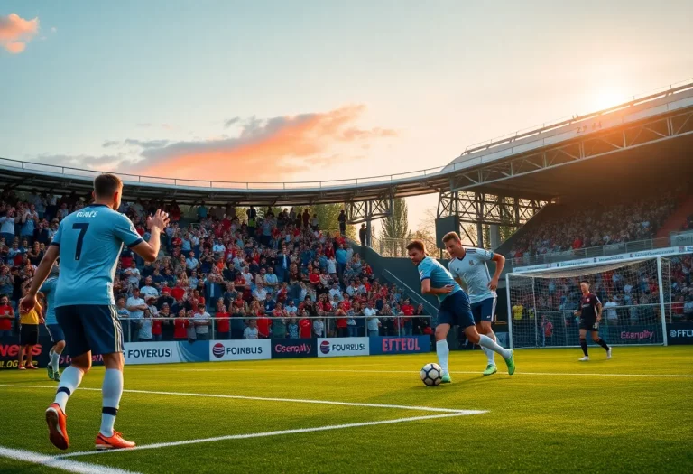
[[[364,112],[365,106],[356,105],[298,116],[229,119],[241,124],[236,137],[147,142],[143,160],[132,171],[193,180],[287,181],[292,174],[333,161],[336,148],[397,135],[390,129],[356,127]]]

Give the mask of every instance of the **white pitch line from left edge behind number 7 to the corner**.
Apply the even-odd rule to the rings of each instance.
[[[12,384],[0,384],[0,386],[14,388],[52,388],[56,386],[23,386]],[[100,388],[78,388],[78,390],[88,390],[91,392],[100,392]],[[282,402],[290,404],[336,404],[341,406],[364,406],[367,408],[390,408],[397,410],[419,410],[421,412],[443,412],[447,414],[483,414],[485,412],[478,410],[457,410],[454,408],[437,408],[433,406],[409,406],[404,404],[360,404],[357,402],[333,402],[330,400],[303,400],[300,398],[273,398],[266,396],[245,396],[245,395],[221,395],[221,394],[193,394],[188,392],[160,392],[157,390],[123,390],[129,394],[148,394],[148,395],[172,395],[172,396],[201,396],[209,398],[231,398],[233,400],[254,400],[260,402]]]

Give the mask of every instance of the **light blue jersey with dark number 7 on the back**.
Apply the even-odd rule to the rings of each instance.
[[[115,304],[113,279],[123,244],[142,241],[129,218],[103,204],[69,214],[51,242],[60,246],[55,307]]]

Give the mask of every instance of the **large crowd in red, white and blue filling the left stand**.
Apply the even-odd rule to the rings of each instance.
[[[0,201],[0,337],[12,332],[17,302],[60,220],[89,197],[34,191]],[[174,201],[136,200],[121,212],[145,239],[146,216],[171,215],[162,252],[145,264],[127,248],[114,296],[125,341],[297,339],[430,334],[422,305],[379,282],[344,237],[319,228],[310,209],[208,208],[186,215]],[[16,324],[14,324],[16,326]]]

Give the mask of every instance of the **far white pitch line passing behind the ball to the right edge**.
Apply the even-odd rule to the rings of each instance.
[[[132,366],[128,366],[128,370],[132,370]],[[170,368],[167,367],[143,367],[143,366],[138,366],[137,369],[146,369],[146,370],[171,370]],[[347,373],[347,374],[409,374],[409,375],[414,375],[418,374],[418,371],[416,370],[356,370],[356,369],[345,369],[345,368],[337,368],[337,369],[315,369],[315,368],[244,368],[244,367],[237,367],[237,368],[227,368],[227,367],[219,367],[219,368],[176,368],[176,372],[319,372],[319,373],[325,373],[326,370],[328,372],[341,372],[341,373]],[[450,374],[467,374],[467,375],[479,375],[481,374],[480,371],[473,371],[473,370],[450,370]],[[498,374],[501,375],[508,375],[507,372],[498,372]],[[587,373],[587,372],[576,372],[576,373],[568,373],[568,372],[515,372],[513,376],[634,376],[634,377],[645,377],[645,378],[693,378],[693,375],[687,375],[687,374],[596,374],[596,373]]]

